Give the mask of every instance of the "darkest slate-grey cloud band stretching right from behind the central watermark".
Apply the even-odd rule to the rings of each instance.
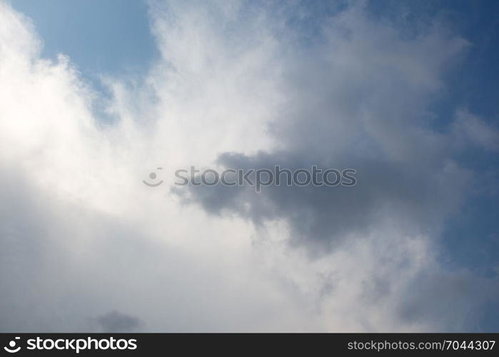
[[[321,169],[356,169],[357,184],[347,186],[188,186],[187,201],[213,214],[237,214],[256,224],[284,218],[292,241],[321,248],[336,244],[348,233],[366,233],[383,219],[394,219],[412,233],[431,233],[458,206],[470,173],[450,161],[395,161],[349,156],[338,161],[313,161],[301,153],[223,154],[218,164],[231,169],[291,171],[313,164]],[[323,252],[327,252],[323,251]]]

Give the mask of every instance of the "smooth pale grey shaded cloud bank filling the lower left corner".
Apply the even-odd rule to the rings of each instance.
[[[164,243],[168,226],[153,242],[140,226],[30,178],[0,166],[9,203],[0,206],[1,332],[258,331],[287,313],[247,282],[253,271],[228,273],[197,243]]]

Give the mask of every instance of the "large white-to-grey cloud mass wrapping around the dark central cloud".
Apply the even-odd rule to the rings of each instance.
[[[432,237],[407,230],[398,216],[383,216],[366,234],[344,233],[334,251],[311,258],[288,246],[293,227],[284,218],[264,226],[214,218],[183,206],[167,187],[174,169],[212,164],[226,151],[307,149],[323,160],[326,149],[339,157],[357,146],[359,132],[390,160],[445,151],[405,115],[424,109],[463,40],[435,30],[406,43],[353,6],[326,27],[328,43],[310,49],[330,61],[324,72],[264,9],[242,16],[238,2],[167,9],[153,2],[162,58],[143,84],[106,79],[114,93],[108,109],[119,121],[103,126],[91,110],[97,94],[71,59],[41,59],[29,20],[0,6],[1,331],[99,329],[96,319],[109,311],[148,331],[420,331],[456,323],[455,314],[404,318],[424,294],[405,315],[394,311],[419,276],[463,275],[445,272]],[[143,186],[157,166],[165,184]],[[443,216],[457,206],[453,199]]]

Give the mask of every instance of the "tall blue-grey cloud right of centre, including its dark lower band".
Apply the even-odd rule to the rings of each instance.
[[[338,12],[306,49],[288,49],[281,39],[293,54],[281,79],[286,105],[268,129],[282,149],[218,156],[233,169],[356,169],[357,186],[271,186],[261,194],[191,187],[184,196],[208,212],[255,223],[285,218],[293,241],[320,242],[321,249],[346,233],[375,229],[380,219],[412,233],[438,230],[472,174],[456,161],[453,136],[431,129],[427,106],[443,86],[445,64],[467,43],[438,26],[403,38],[364,11],[353,5]]]

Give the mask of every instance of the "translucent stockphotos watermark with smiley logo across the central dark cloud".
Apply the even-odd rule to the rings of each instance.
[[[163,168],[158,167],[161,171]],[[276,165],[273,169],[178,169],[175,171],[176,186],[252,186],[256,192],[268,186],[355,186],[355,169],[321,169],[313,165],[312,169],[283,169]],[[143,180],[149,187],[163,183],[156,172],[149,174],[150,180]]]

